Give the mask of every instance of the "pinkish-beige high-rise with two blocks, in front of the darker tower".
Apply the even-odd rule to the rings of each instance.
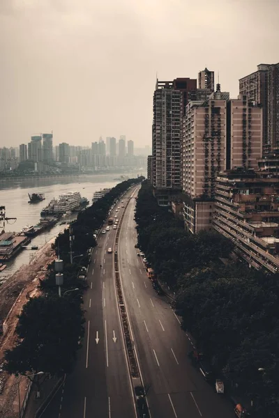
[[[226,100],[218,84],[208,101],[189,102],[182,144],[184,219],[189,231],[211,229],[218,173],[236,167],[256,169],[261,156],[262,109],[246,96]]]

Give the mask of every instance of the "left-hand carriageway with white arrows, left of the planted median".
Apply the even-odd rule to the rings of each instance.
[[[126,199],[125,199],[126,200]],[[117,215],[123,213],[121,204]],[[105,226],[107,226],[105,224]],[[104,228],[105,229],[105,228]],[[43,418],[135,418],[128,362],[123,343],[113,274],[116,231],[100,233],[84,294],[85,335],[75,370],[47,406]],[[100,268],[100,265],[102,266]]]

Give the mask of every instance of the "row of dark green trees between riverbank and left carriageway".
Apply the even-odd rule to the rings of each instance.
[[[103,226],[112,204],[128,187],[142,180],[130,179],[116,185],[102,199],[80,212],[70,226],[75,235],[74,254],[84,254],[74,258],[75,263],[70,264],[69,230],[56,238],[55,251],[64,262],[62,297],[57,294],[52,263],[48,266],[47,278],[40,282],[42,295],[31,298],[19,316],[17,342],[5,353],[4,369],[8,373],[18,376],[43,371],[44,376],[63,376],[73,370],[84,334],[82,295],[86,282],[78,279],[80,267],[89,263],[88,250],[96,245],[93,232]],[[68,292],[77,288],[78,291]]]

